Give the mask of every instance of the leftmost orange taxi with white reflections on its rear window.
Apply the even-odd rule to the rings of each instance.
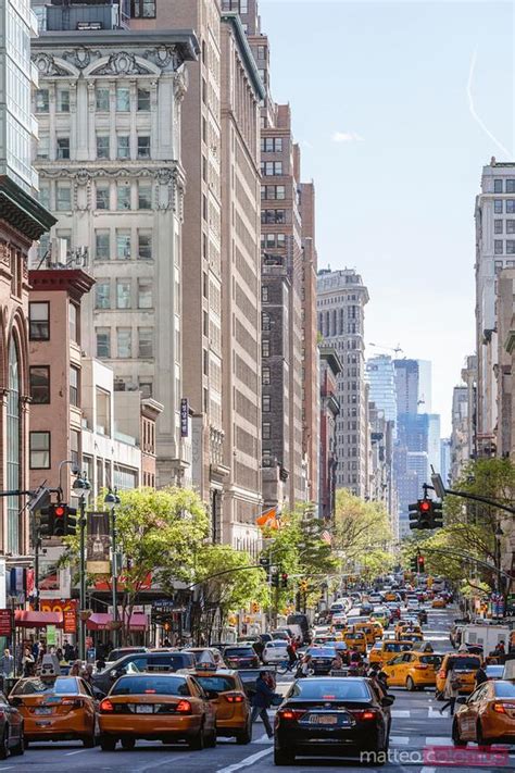
[[[14,685],[9,702],[23,716],[25,746],[40,740],[81,740],[95,746],[98,703],[79,676],[29,676]]]

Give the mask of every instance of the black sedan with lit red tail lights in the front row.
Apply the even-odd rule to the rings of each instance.
[[[370,680],[313,677],[293,683],[275,720],[274,762],[300,757],[348,757],[381,764],[390,736],[394,698],[380,698]],[[369,757],[378,755],[378,759]]]

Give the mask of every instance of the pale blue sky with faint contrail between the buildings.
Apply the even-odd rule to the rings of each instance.
[[[452,387],[475,348],[481,167],[514,159],[514,3],[260,9],[274,98],[292,107],[302,176],[316,185],[319,265],[361,272],[367,342],[432,361],[432,410],[449,433]]]

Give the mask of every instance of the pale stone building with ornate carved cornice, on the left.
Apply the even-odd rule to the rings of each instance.
[[[159,485],[191,479],[180,436],[180,104],[197,53],[191,32],[163,28],[41,33],[33,48],[40,201],[59,217],[39,260],[89,262],[97,284],[83,344],[114,370],[116,388],[164,406]]]

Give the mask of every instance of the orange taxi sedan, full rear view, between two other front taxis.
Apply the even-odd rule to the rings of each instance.
[[[185,740],[196,751],[216,746],[215,708],[190,674],[126,674],[99,709],[102,751],[113,751],[118,740],[134,749],[138,738]]]

